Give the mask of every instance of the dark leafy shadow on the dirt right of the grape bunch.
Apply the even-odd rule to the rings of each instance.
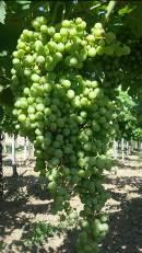
[[[100,253],[140,253],[142,252],[142,179],[122,177],[113,182],[118,189],[125,185],[138,187],[129,194],[110,189],[111,197],[120,200],[120,210],[110,214],[109,233]],[[137,197],[133,194],[137,194]]]

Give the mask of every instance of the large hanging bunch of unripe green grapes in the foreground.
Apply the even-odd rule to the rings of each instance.
[[[100,23],[88,34],[80,18],[54,27],[39,16],[33,28],[23,31],[13,53],[16,129],[34,143],[35,170],[48,180],[54,214],[69,215],[71,197],[80,196],[78,252],[97,252],[108,230],[103,182],[104,170],[111,168],[107,150],[115,134],[114,102],[83,69],[87,59],[120,57],[130,49]]]

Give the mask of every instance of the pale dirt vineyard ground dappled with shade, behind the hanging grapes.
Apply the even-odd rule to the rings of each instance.
[[[51,198],[40,189],[33,163],[20,164],[19,176],[12,177],[9,161],[4,161],[4,200],[0,203],[0,253],[75,253],[75,232],[55,235],[43,245],[28,245],[29,226],[44,221],[56,225],[58,216],[50,214]],[[142,159],[130,156],[117,174],[105,184],[111,198],[106,204],[110,215],[109,232],[100,253],[142,252]],[[76,198],[72,200],[80,208]]]

